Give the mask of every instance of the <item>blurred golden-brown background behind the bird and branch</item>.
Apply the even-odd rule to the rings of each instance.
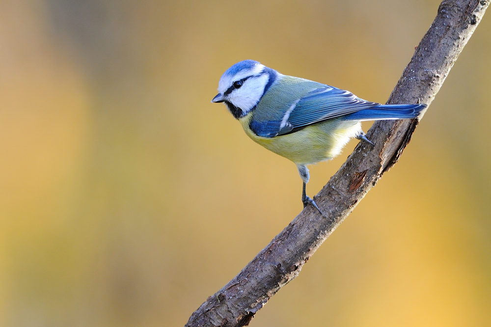
[[[250,58],[384,103],[438,4],[1,0],[0,326],[183,326],[302,209],[295,165],[210,103],[221,74]],[[250,326],[491,326],[489,15]]]

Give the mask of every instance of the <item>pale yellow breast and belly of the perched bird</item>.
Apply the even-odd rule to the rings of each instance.
[[[305,127],[295,133],[261,137],[249,127],[252,112],[239,121],[247,136],[266,149],[295,164],[314,164],[339,155],[348,141],[361,132],[361,123],[330,119]]]

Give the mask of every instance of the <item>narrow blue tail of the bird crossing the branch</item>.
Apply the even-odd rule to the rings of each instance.
[[[345,116],[346,120],[410,119],[419,116],[427,105],[378,105]]]

